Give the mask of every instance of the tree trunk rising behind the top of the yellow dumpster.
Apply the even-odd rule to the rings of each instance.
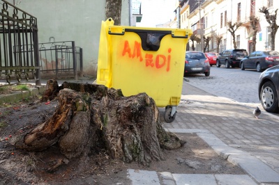
[[[122,0],[106,0],[105,17],[112,18],[114,25],[121,24],[121,7]]]

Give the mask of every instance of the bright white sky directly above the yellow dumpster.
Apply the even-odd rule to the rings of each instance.
[[[156,27],[174,19],[177,0],[142,0],[142,22],[137,26]]]

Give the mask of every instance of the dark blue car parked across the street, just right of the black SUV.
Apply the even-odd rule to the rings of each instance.
[[[277,51],[254,51],[240,62],[241,70],[256,69],[262,72],[269,67],[279,64],[279,53]]]

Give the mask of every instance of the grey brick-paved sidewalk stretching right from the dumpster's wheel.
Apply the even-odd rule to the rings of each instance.
[[[206,129],[230,147],[249,152],[279,172],[279,119],[226,97],[217,97],[183,82],[176,119],[163,123],[167,129]]]

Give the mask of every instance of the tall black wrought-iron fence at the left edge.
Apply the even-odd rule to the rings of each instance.
[[[0,0],[0,75],[10,83],[33,74],[40,85],[37,18]]]

